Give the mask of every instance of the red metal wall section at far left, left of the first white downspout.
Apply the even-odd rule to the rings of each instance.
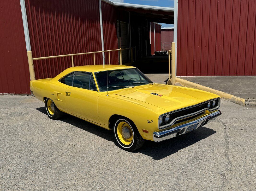
[[[30,93],[22,14],[16,0],[1,0],[0,59],[0,93]]]

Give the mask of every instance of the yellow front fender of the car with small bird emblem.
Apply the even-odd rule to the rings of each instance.
[[[103,127],[112,115],[121,115],[134,122],[143,139],[151,141],[153,132],[158,130],[158,117],[165,112],[157,106],[115,94],[100,95],[98,100],[99,120]]]

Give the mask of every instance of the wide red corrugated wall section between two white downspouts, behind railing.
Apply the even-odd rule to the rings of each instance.
[[[33,57],[101,51],[99,1],[25,0]],[[102,64],[102,53],[95,54]],[[93,55],[74,56],[74,65],[93,64]],[[36,79],[71,67],[71,57],[34,61]]]

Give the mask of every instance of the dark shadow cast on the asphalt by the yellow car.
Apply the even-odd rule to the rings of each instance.
[[[36,108],[36,110],[47,115],[45,107],[39,107]],[[65,116],[63,116],[60,121],[69,123],[75,127],[93,133],[94,135],[97,135],[103,139],[114,142],[112,131],[91,124],[90,122],[84,121],[68,114],[65,114]],[[160,143],[146,140],[143,147],[134,151],[134,153],[142,153],[144,155],[152,157],[152,159],[154,160],[160,160],[178,152],[183,148],[193,145],[198,141],[211,136],[214,133],[216,133],[216,131],[210,128],[199,127],[195,131],[180,135],[170,140],[162,141]]]

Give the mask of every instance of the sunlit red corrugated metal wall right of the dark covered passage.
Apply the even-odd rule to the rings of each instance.
[[[256,75],[256,1],[179,1],[177,76]]]

